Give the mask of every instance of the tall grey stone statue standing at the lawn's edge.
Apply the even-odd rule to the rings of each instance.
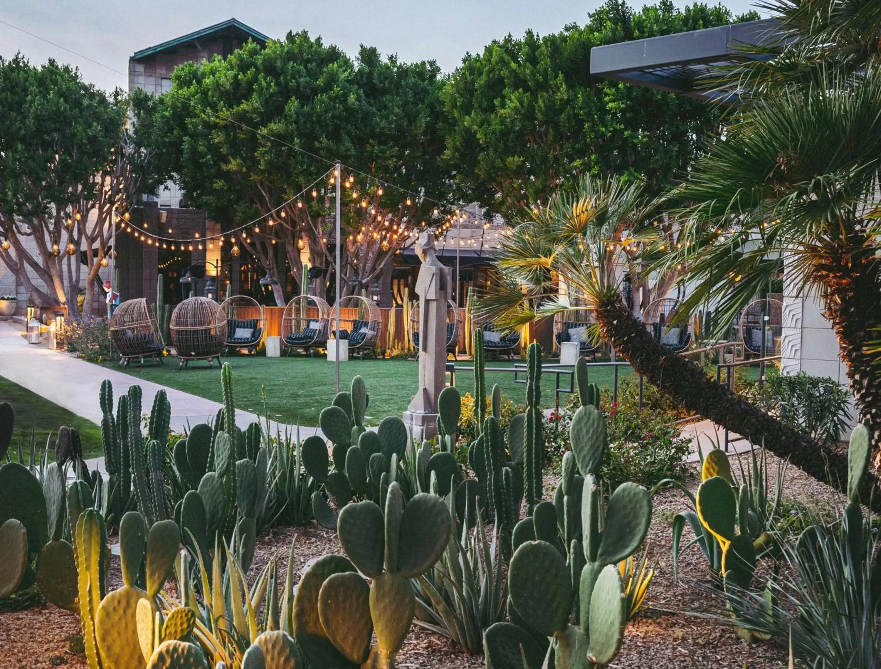
[[[447,304],[449,268],[437,258],[434,233],[419,235],[416,253],[422,266],[416,280],[419,296],[419,385],[403,413],[417,441],[437,435],[438,396],[447,383]]]

